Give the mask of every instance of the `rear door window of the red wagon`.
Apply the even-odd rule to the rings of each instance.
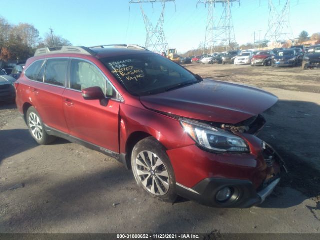
[[[64,86],[68,59],[48,59],[44,72],[44,82]]]

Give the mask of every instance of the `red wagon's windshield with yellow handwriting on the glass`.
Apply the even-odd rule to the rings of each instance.
[[[183,67],[157,54],[107,57],[101,61],[133,95],[156,94],[200,81]]]

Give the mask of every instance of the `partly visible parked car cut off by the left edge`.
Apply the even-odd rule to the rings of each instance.
[[[14,82],[15,78],[6,75],[0,70],[0,101],[15,100]]]

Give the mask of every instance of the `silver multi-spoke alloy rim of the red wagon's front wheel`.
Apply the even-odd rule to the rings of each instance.
[[[169,173],[163,161],[151,151],[141,151],[135,159],[135,171],[143,187],[153,195],[165,195],[170,187]]]

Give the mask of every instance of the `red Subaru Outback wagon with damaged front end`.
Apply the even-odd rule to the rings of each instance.
[[[202,79],[142,47],[38,49],[15,89],[35,141],[110,155],[164,201],[249,207],[279,182],[280,157],[255,136],[276,96]]]

